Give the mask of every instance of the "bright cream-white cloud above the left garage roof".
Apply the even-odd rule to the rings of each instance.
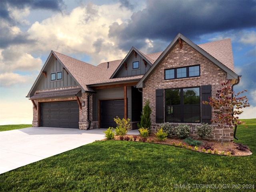
[[[126,52],[118,48],[115,39],[108,38],[109,26],[113,22],[122,24],[132,14],[130,10],[121,10],[119,6],[90,3],[75,8],[68,15],[57,13],[42,22],[35,22],[27,33],[36,44],[28,50],[90,55],[92,64],[123,58]]]

